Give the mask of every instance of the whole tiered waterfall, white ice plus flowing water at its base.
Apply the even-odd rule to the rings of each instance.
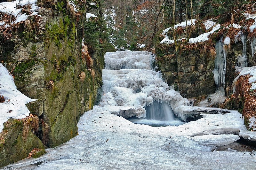
[[[152,71],[154,57],[150,52],[141,51],[106,53],[105,70],[102,75],[104,95],[100,105],[125,107],[118,107],[122,110],[132,108],[134,116],[128,120],[134,123],[178,126],[184,121],[176,118],[172,107],[188,105],[189,101],[178,92],[170,90],[161,79],[160,72]],[[175,111],[177,114],[177,109]]]

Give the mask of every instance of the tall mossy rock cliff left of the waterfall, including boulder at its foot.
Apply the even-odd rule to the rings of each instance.
[[[22,138],[24,125],[9,125],[9,129],[16,127],[12,128],[16,129],[16,135],[7,142],[6,135],[2,134],[0,149],[5,159],[1,158],[0,166],[27,157],[34,147],[55,147],[67,142],[77,134],[80,115],[93,107],[102,83],[107,42],[104,23],[99,2],[74,3],[37,1],[37,15],[28,14],[25,21],[1,30],[0,59],[9,71],[12,70],[17,89],[38,99],[27,106],[39,119],[39,128],[34,134],[29,130],[31,140],[27,145],[30,146],[23,151],[24,146],[16,143],[25,142]],[[29,8],[29,4],[23,8]],[[86,13],[95,17],[86,17]],[[9,124],[11,122],[16,121],[10,120]],[[14,133],[14,130],[11,131]],[[8,148],[7,143],[11,144]],[[19,157],[13,156],[21,149]]]

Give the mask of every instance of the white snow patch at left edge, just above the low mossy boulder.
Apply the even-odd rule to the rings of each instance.
[[[9,118],[21,119],[29,115],[25,104],[35,101],[16,89],[12,75],[0,63],[0,96],[4,96],[4,103],[0,103],[0,132],[4,128],[3,123]]]

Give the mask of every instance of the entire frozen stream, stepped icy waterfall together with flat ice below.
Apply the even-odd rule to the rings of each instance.
[[[47,149],[40,158],[24,159],[5,169],[254,169],[255,151],[214,150],[239,140],[239,135],[256,139],[254,132],[246,131],[242,115],[230,111],[203,114],[185,124],[174,120],[173,113],[186,120],[189,112],[207,108],[189,106],[188,99],[169,89],[151,70],[152,58],[146,52],[107,53],[100,106],[80,118],[79,135]],[[154,103],[157,109],[150,108]],[[166,107],[168,115],[148,115],[150,110],[166,111]],[[111,114],[129,109],[139,120],[165,123],[170,119],[181,125],[152,127]]]

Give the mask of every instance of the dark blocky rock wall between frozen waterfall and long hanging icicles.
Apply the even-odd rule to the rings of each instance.
[[[158,57],[158,69],[164,81],[187,98],[214,93],[216,88],[212,70],[215,58],[196,49],[175,52],[171,46],[161,44],[156,48],[156,55],[164,54]]]

